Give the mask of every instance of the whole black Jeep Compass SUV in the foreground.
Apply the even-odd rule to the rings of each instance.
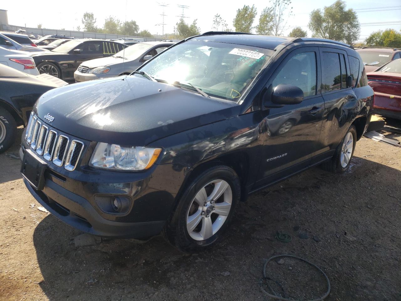
[[[30,193],[84,232],[213,244],[240,200],[350,166],[373,90],[352,47],[209,32],[132,75],[53,89],[22,137]]]

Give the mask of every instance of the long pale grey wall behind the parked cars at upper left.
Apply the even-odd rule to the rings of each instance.
[[[0,10],[1,13],[1,10]],[[1,16],[1,15],[0,15]],[[27,35],[66,35],[69,37],[76,37],[79,39],[82,38],[93,38],[93,39],[118,39],[118,38],[124,38],[124,35],[112,35],[112,34],[106,34],[106,33],[87,33],[86,31],[62,31],[58,29],[39,29],[39,28],[32,28],[32,27],[24,27],[24,26],[15,26],[15,25],[0,25],[1,29],[3,31],[16,31],[18,29],[24,29],[26,30]],[[146,38],[146,37],[133,37],[133,36],[125,36],[127,38],[140,38],[144,39],[145,42],[147,41],[160,41],[160,39],[154,39],[154,38]]]

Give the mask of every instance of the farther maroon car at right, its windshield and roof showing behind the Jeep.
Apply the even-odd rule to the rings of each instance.
[[[401,58],[401,49],[389,47],[363,47],[357,49],[366,72],[375,71],[389,61]]]

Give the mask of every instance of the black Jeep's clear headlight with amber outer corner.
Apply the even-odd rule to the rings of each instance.
[[[161,151],[161,148],[99,142],[93,152],[90,165],[105,169],[141,171],[152,167]]]

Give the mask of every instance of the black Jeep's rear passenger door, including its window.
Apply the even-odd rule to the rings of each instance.
[[[350,120],[355,118],[351,115],[358,105],[352,86],[347,86],[350,75],[347,53],[336,48],[319,48],[325,109],[319,139],[322,148],[313,158],[315,163],[334,153],[350,126]]]

